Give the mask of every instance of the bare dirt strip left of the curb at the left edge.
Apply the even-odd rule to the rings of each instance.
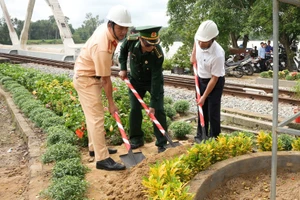
[[[27,145],[0,96],[0,199],[27,199]]]

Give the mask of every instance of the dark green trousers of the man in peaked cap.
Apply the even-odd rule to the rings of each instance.
[[[141,96],[141,98],[144,98],[146,92],[151,91],[151,84],[132,84],[135,90],[138,92],[138,94]],[[163,86],[162,86],[163,87]],[[159,95],[157,106],[155,109],[155,117],[159,121],[159,123],[162,125],[162,127],[167,131],[167,119],[166,119],[166,113],[164,110],[164,92],[163,88],[161,90],[162,92]],[[142,105],[138,101],[138,99],[135,97],[135,95],[129,90],[129,97],[130,97],[130,130],[129,130],[129,137],[132,144],[141,144],[144,143],[144,132],[142,131]],[[149,120],[151,120],[149,118]],[[156,137],[156,143],[155,145],[158,147],[162,147],[167,144],[166,137],[160,132],[160,130],[157,128],[157,126],[153,123],[154,128],[154,135]]]

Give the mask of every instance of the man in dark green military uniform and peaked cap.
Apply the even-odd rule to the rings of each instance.
[[[127,58],[130,59],[130,73],[128,78],[141,96],[144,98],[146,92],[151,95],[149,110],[153,113],[162,127],[167,131],[166,114],[164,111],[164,80],[162,74],[162,64],[164,55],[158,32],[159,26],[137,27],[139,33],[130,35],[123,42],[120,49],[119,62],[121,71],[120,77],[124,80],[127,77]],[[129,56],[128,56],[129,54]],[[140,102],[129,90],[130,96],[130,130],[129,137],[131,148],[136,149],[144,145],[144,132],[142,126],[142,107]],[[156,136],[155,145],[158,152],[166,150],[167,139],[162,135],[153,123],[154,134]]]

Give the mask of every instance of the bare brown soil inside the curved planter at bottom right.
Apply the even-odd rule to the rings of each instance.
[[[270,199],[270,170],[232,178],[213,191],[205,200]],[[300,172],[279,169],[276,180],[276,200],[300,199]]]

